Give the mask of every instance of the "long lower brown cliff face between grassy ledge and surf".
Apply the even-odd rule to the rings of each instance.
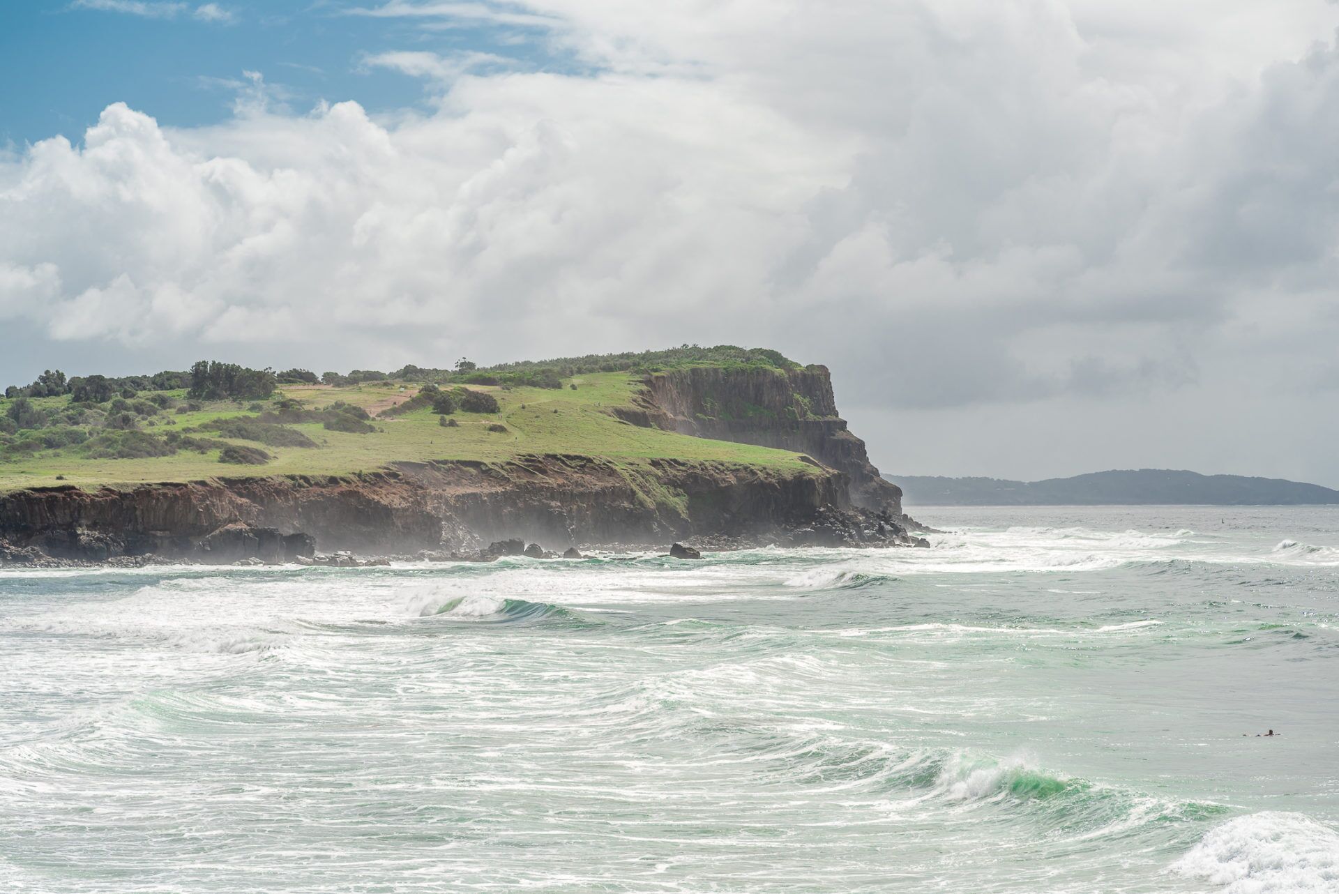
[[[469,551],[513,537],[554,547],[912,542],[890,515],[842,509],[846,488],[832,468],[628,467],[564,455],[402,463],[352,476],[33,488],[0,495],[0,559],[283,561],[317,547]]]

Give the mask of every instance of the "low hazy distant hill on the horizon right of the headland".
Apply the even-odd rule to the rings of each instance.
[[[1316,506],[1339,503],[1339,491],[1241,475],[1200,475],[1166,468],[1090,472],[1014,482],[999,478],[886,475],[904,501],[919,506]]]

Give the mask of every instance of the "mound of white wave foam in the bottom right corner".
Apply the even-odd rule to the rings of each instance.
[[[1224,894],[1339,891],[1339,832],[1303,814],[1265,811],[1209,831],[1172,865]]]

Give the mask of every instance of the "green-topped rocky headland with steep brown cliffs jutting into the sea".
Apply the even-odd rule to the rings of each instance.
[[[481,373],[469,387],[491,400],[461,412],[410,379],[287,385],[250,407],[162,392],[127,404],[139,415],[125,438],[96,427],[103,411],[47,397],[50,419],[87,428],[0,443],[0,562],[477,555],[518,537],[553,549],[917,543],[900,490],[837,415],[826,368],[728,347],[665,355],[643,359],[671,367],[653,373],[601,357]],[[88,446],[64,443],[71,434]],[[265,456],[264,471],[220,466],[229,447]]]

